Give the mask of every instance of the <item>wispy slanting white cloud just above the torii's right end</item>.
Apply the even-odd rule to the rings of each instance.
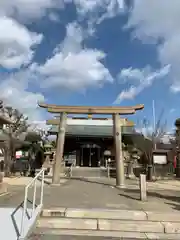
[[[125,99],[134,99],[145,88],[150,87],[156,79],[166,77],[170,71],[170,66],[167,65],[159,70],[152,71],[150,67],[140,69],[122,69],[119,74],[120,80],[133,81],[134,84],[127,90],[123,90],[115,100],[115,104],[119,104]]]

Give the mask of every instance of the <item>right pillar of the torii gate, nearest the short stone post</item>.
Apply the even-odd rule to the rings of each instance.
[[[122,133],[119,114],[113,114],[113,134],[116,161],[116,186],[124,187],[124,160],[122,156]]]

